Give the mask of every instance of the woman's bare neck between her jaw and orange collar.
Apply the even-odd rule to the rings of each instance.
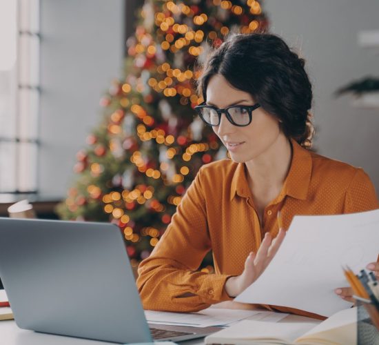
[[[281,133],[258,157],[245,162],[250,188],[281,190],[291,166],[291,143]]]

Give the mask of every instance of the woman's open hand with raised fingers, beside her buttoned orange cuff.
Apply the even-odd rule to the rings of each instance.
[[[285,238],[285,230],[280,228],[274,240],[269,233],[266,233],[257,253],[251,252],[245,261],[245,269],[241,275],[229,277],[225,283],[225,291],[230,297],[236,297],[252,285],[263,273],[272,258],[278,251],[280,244]]]

